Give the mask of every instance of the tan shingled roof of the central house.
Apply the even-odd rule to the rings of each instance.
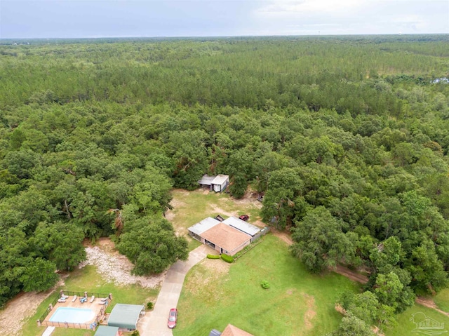
[[[223,222],[218,222],[214,227],[204,231],[201,237],[228,252],[235,250],[251,238],[249,234],[244,234],[242,231],[234,229],[234,227],[230,227]]]

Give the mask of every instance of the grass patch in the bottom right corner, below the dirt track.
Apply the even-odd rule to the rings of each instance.
[[[429,318],[433,318],[435,321],[444,323],[446,325],[446,328],[444,330],[449,331],[449,317],[445,316],[441,313],[438,313],[438,311],[435,311],[434,309],[430,309],[424,306],[421,306],[420,304],[415,304],[415,306],[411,307],[410,309],[407,309],[402,314],[399,314],[396,316],[396,319],[398,321],[398,325],[394,328],[386,329],[384,330],[385,336],[403,336],[403,335],[431,335],[431,334],[424,334],[422,332],[414,331],[416,328],[415,323],[413,321],[410,321],[410,318],[412,318],[413,314],[422,313],[425,316]],[[422,316],[420,314],[420,316]],[[434,334],[437,335],[437,334]],[[445,335],[445,332],[441,335]]]

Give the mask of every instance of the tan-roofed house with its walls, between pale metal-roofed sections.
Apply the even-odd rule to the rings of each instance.
[[[224,222],[218,222],[215,226],[201,234],[201,242],[207,244],[219,253],[235,255],[239,250],[250,244],[251,236]]]

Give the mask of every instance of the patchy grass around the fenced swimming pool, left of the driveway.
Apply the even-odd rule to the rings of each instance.
[[[77,269],[72,272],[68,278],[65,279],[65,285],[58,288],[53,295],[39,305],[36,314],[29,318],[22,329],[22,336],[38,336],[42,335],[45,327],[37,327],[36,320],[41,317],[43,312],[48,307],[55,295],[58,295],[60,289],[74,290],[74,291],[88,291],[93,293],[112,293],[113,300],[107,307],[106,311],[109,313],[117,303],[127,304],[145,304],[149,300],[153,302],[156,300],[159,290],[142,288],[139,285],[116,286],[114,283],[109,283],[102,279],[101,275],[97,273],[95,267],[86,266],[83,269]],[[79,329],[65,329],[56,328],[52,336],[88,336],[94,335],[90,330]]]

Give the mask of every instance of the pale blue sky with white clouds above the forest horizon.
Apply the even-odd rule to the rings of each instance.
[[[449,0],[0,0],[0,39],[449,34]]]

